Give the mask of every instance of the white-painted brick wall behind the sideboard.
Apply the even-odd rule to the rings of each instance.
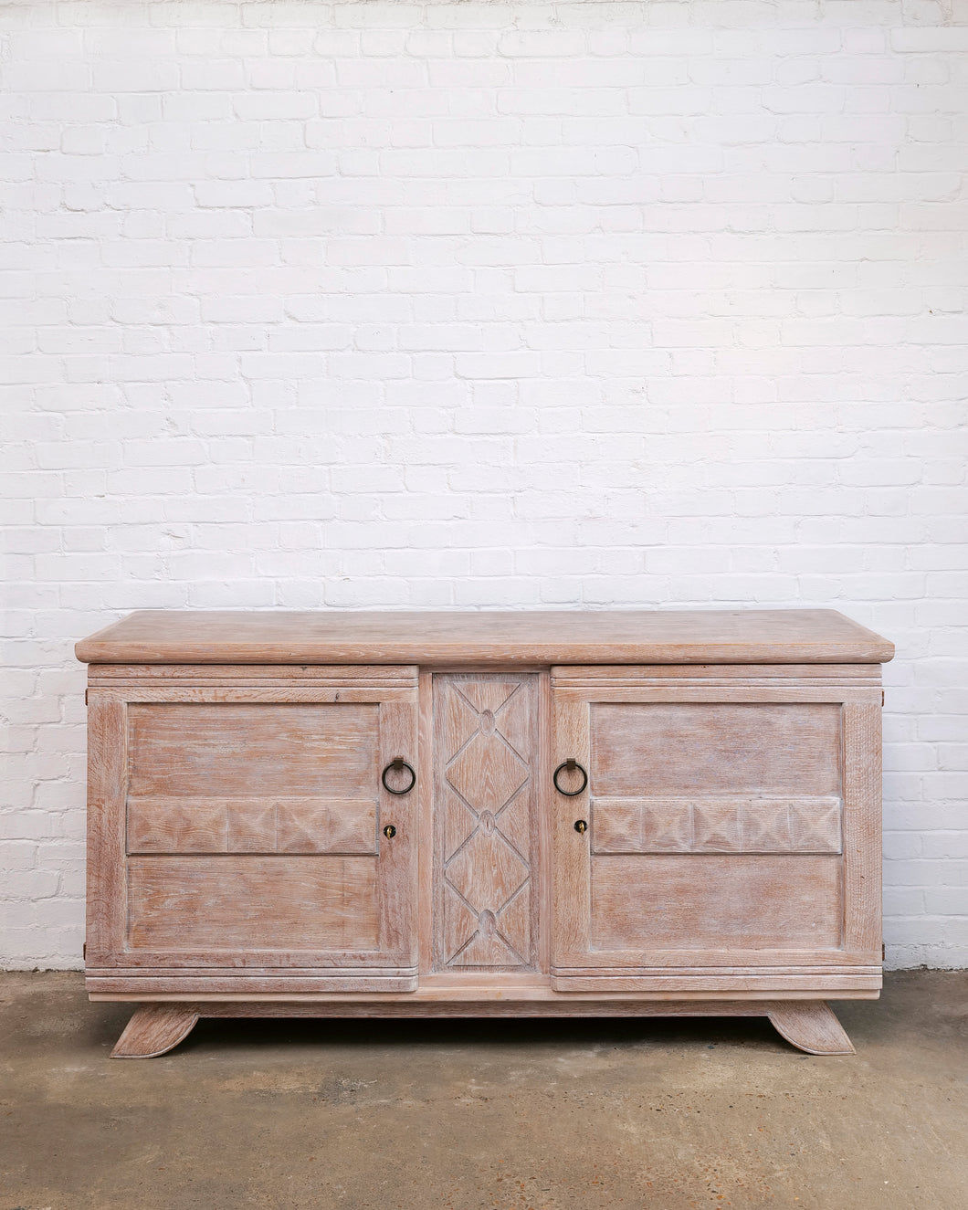
[[[832,605],[968,960],[964,0],[0,0],[0,953],[139,606]]]

